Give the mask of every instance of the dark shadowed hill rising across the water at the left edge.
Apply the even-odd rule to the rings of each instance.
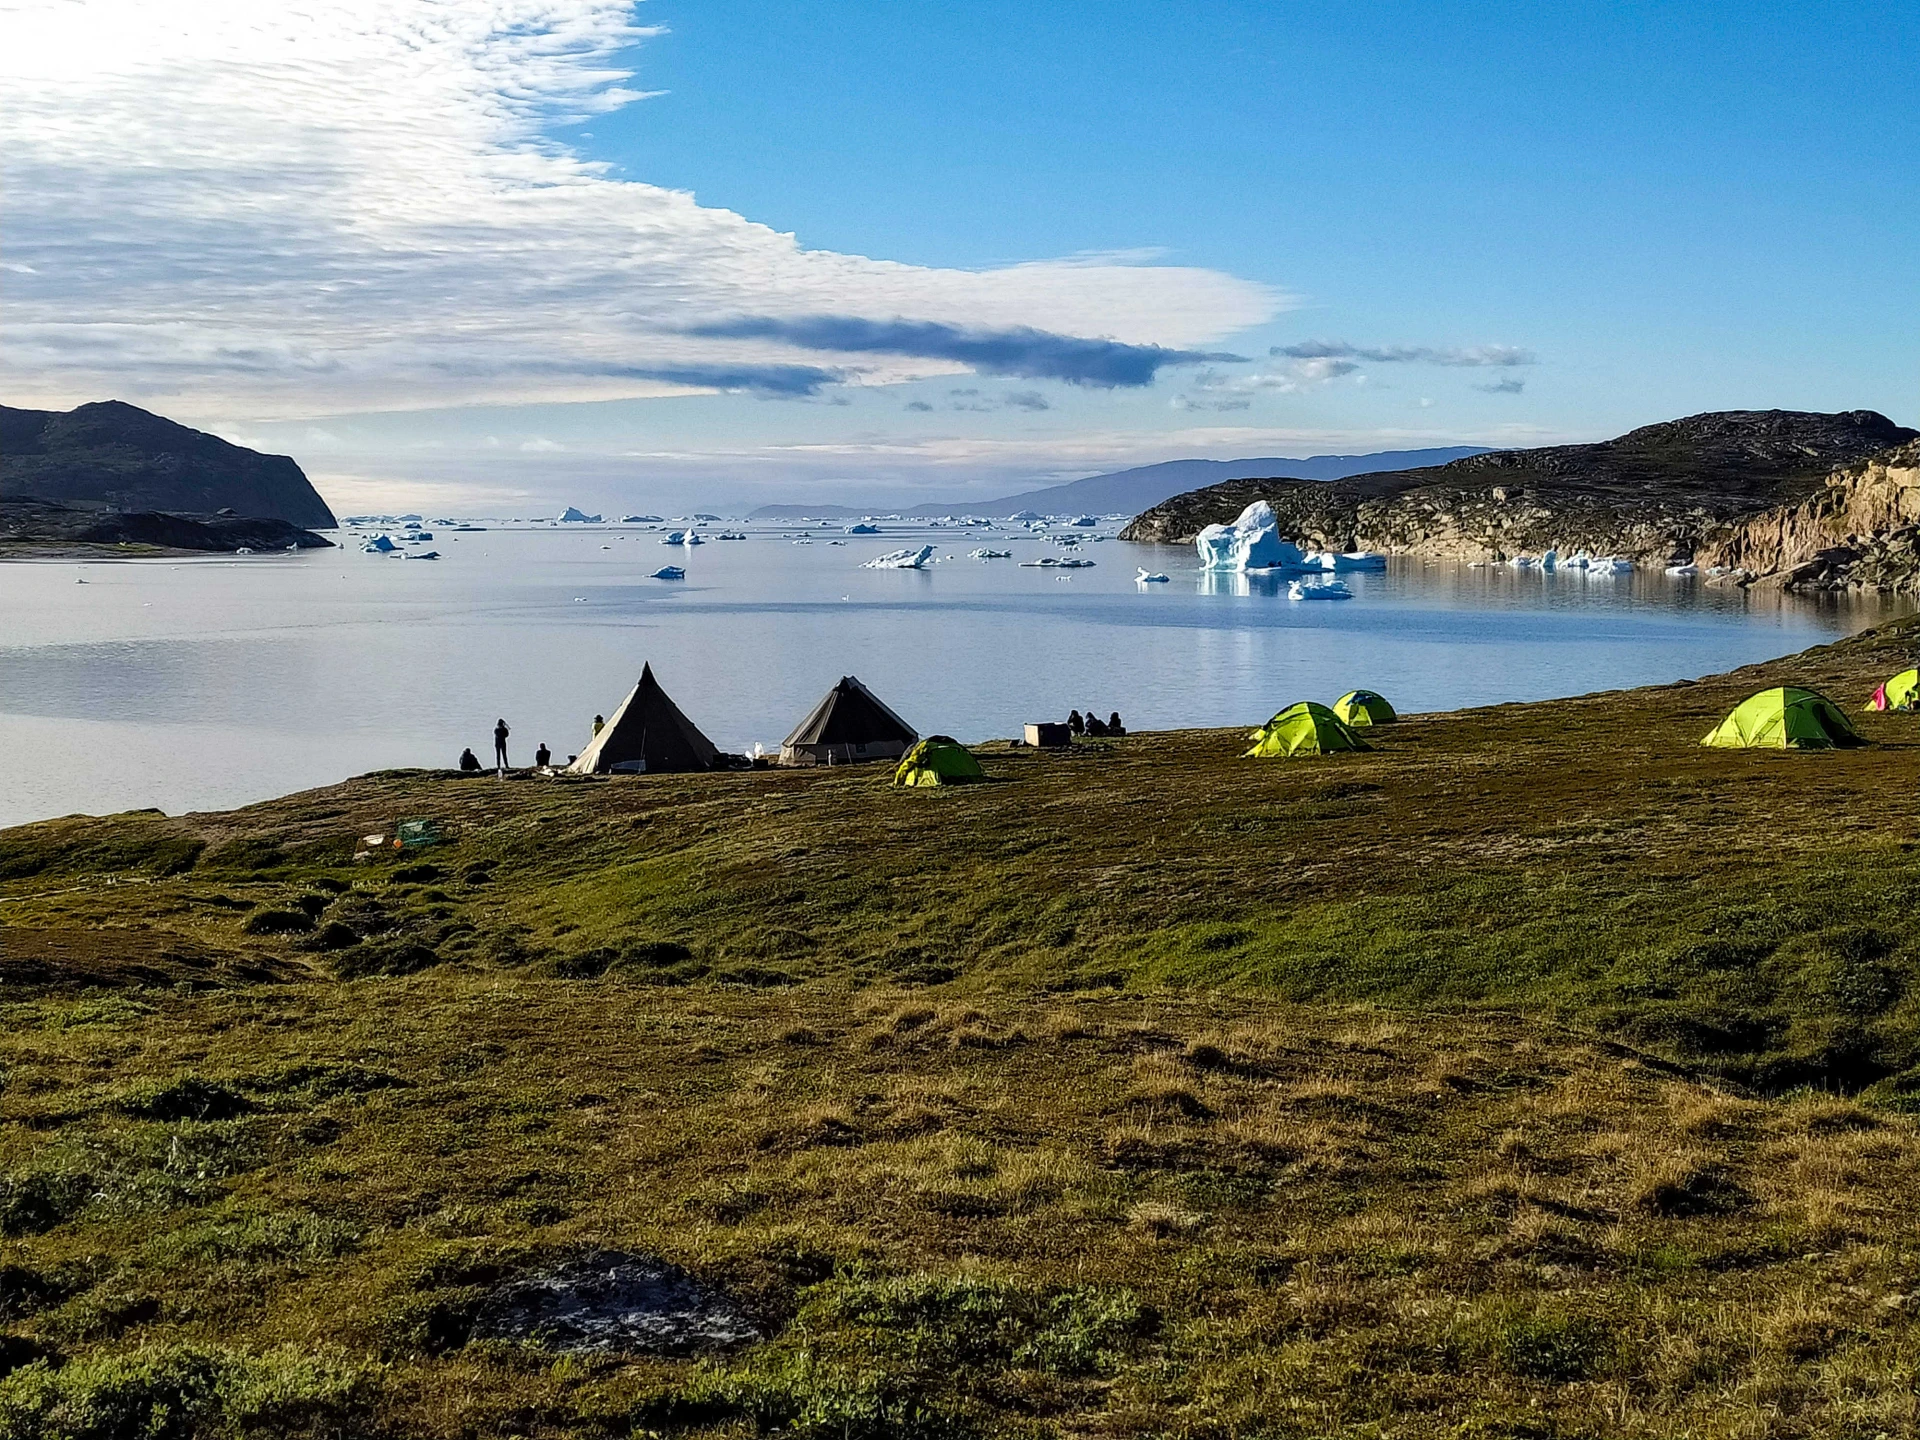
[[[138,405],[0,405],[0,495],[113,511],[234,511],[332,528],[334,513],[286,455],[261,455]]]

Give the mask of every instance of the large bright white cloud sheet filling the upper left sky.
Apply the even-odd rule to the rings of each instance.
[[[628,0],[0,2],[21,399],[319,415],[964,374],[952,353],[687,334],[716,317],[1167,349],[1265,321],[1229,275],[804,250],[551,140],[634,104]],[[795,340],[801,334],[801,340]],[[891,330],[887,334],[893,334]],[[958,349],[956,349],[958,348]],[[1131,380],[1129,380],[1131,384]]]

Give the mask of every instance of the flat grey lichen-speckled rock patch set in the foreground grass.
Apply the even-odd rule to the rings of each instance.
[[[614,1250],[509,1281],[472,1334],[570,1356],[693,1356],[760,1338],[739,1306],[678,1265]]]

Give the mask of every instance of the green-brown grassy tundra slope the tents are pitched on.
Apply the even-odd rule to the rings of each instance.
[[[1916,639],[0,831],[0,1440],[1910,1434],[1920,720],[1695,741]],[[760,1338],[480,1334],[584,1252]]]

